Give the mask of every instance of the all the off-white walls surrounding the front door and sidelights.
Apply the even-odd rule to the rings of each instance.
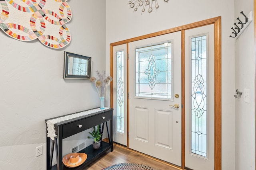
[[[140,15],[129,9],[128,0],[69,0],[72,20],[67,26],[72,41],[63,49],[47,48],[37,40],[17,41],[0,31],[0,170],[45,169],[45,152],[35,156],[39,145],[44,145],[45,151],[44,119],[100,105],[88,80],[62,78],[64,51],[92,57],[95,75],[97,69],[109,70],[110,43],[216,16],[222,17],[222,169],[233,170],[236,165],[240,170],[245,164],[253,169],[254,65],[248,66],[254,63],[252,24],[236,46],[229,37],[239,12],[247,14],[252,10],[252,0],[246,1],[248,4],[235,0],[234,12],[233,0],[180,0],[167,4],[160,0],[157,12],[154,9],[150,15]],[[234,99],[236,88],[250,88],[249,105]],[[246,146],[245,150],[242,146]]]

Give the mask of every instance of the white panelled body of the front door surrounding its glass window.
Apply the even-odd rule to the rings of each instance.
[[[172,98],[136,96],[135,49],[145,45],[172,42]],[[154,59],[152,59],[154,61]],[[181,166],[181,33],[175,32],[129,43],[129,147],[156,158]],[[147,62],[145,60],[145,62]],[[159,63],[151,63],[156,68]],[[155,65],[154,65],[155,64]],[[150,65],[150,64],[149,64]],[[141,66],[148,66],[141,64]],[[161,68],[159,68],[161,70]],[[148,73],[145,69],[145,75]],[[159,73],[156,69],[154,73]],[[152,76],[150,73],[148,77]],[[158,78],[152,76],[153,78]],[[150,80],[153,78],[149,78]],[[168,78],[170,78],[168,77]],[[154,82],[152,82],[154,84]],[[158,84],[159,85],[159,84]],[[137,85],[138,86],[138,85]],[[142,84],[141,86],[148,86]],[[170,105],[179,104],[180,108]]]

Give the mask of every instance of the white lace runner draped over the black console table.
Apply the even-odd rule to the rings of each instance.
[[[106,110],[106,109],[109,109],[109,107],[105,107],[104,109],[100,109],[100,108],[91,109],[91,110],[82,111],[82,112],[75,113],[75,114],[65,115],[65,116],[62,116],[62,117],[55,118],[55,119],[50,119],[50,120],[46,121],[47,137],[50,137],[52,140],[54,140],[54,137],[57,136],[55,128],[54,128],[55,123],[60,123],[62,121],[74,119],[74,118],[81,117],[81,116],[84,116],[84,115],[89,115],[89,114],[96,113],[98,111],[102,111],[102,110]]]

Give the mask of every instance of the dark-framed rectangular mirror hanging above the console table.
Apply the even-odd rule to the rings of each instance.
[[[92,58],[64,51],[64,79],[90,79]]]

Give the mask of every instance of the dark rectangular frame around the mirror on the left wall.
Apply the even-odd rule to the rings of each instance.
[[[68,57],[75,57],[75,58],[88,60],[88,65],[87,65],[88,75],[82,76],[82,75],[68,74],[68,64],[69,64]],[[63,75],[64,79],[90,79],[91,78],[91,67],[92,67],[92,58],[91,57],[64,51],[64,75]]]

